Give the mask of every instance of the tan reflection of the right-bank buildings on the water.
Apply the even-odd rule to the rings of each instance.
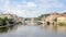
[[[61,32],[61,33],[66,33],[66,26],[54,26],[54,25],[50,25],[48,26],[48,29],[53,33],[57,33],[57,32]]]

